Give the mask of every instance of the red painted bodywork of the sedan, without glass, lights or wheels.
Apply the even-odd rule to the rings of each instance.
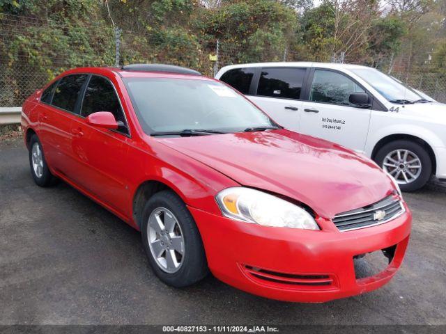
[[[410,234],[411,214],[370,228],[339,232],[330,220],[394,191],[369,159],[321,139],[287,130],[183,138],[151,137],[139,125],[122,77],[187,78],[180,74],[79,68],[61,75],[92,73],[114,84],[130,136],[116,131],[107,113],[82,118],[40,102],[39,90],[24,103],[22,129],[36,132],[49,168],[82,193],[139,229],[132,209],[137,189],[155,180],[183,198],[197,222],[210,270],[229,285],[286,301],[328,301],[376,289],[399,268]],[[56,78],[58,79],[58,78]],[[320,231],[268,228],[222,216],[215,195],[251,186],[308,205]],[[383,273],[355,280],[353,256],[397,245]],[[245,267],[249,266],[249,267]],[[328,285],[277,284],[256,278],[250,267],[311,276]],[[274,274],[264,273],[274,278]],[[313,277],[314,276],[314,277]],[[321,276],[321,277],[319,277]]]

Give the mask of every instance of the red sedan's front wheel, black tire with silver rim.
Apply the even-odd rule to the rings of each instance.
[[[162,225],[154,223],[156,217],[160,218]],[[175,223],[172,223],[172,217]],[[172,225],[175,225],[173,230]],[[166,233],[167,230],[169,230],[169,235]],[[174,243],[174,239],[179,240],[179,235],[183,237],[181,247],[178,247],[178,242]],[[197,225],[183,200],[173,191],[155,193],[146,202],[141,237],[153,271],[167,285],[186,287],[197,283],[208,274],[206,254]],[[170,241],[169,238],[171,238]],[[164,246],[162,246],[163,241]],[[179,248],[183,250],[182,255],[177,251]],[[174,255],[168,256],[168,251],[169,254],[173,252]],[[174,257],[173,261],[171,256]],[[178,267],[176,267],[177,264]]]

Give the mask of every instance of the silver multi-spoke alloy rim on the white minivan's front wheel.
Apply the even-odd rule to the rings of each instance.
[[[409,150],[394,150],[385,156],[383,169],[399,184],[409,184],[420,176],[422,164],[417,154]]]

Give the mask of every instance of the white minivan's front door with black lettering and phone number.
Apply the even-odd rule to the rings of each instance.
[[[300,132],[364,152],[371,110],[348,102],[351,93],[365,93],[364,88],[344,73],[317,68],[309,82]]]

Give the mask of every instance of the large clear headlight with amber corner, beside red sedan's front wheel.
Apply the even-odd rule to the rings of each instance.
[[[217,194],[224,216],[277,228],[319,230],[314,218],[302,207],[262,191],[236,186]]]

